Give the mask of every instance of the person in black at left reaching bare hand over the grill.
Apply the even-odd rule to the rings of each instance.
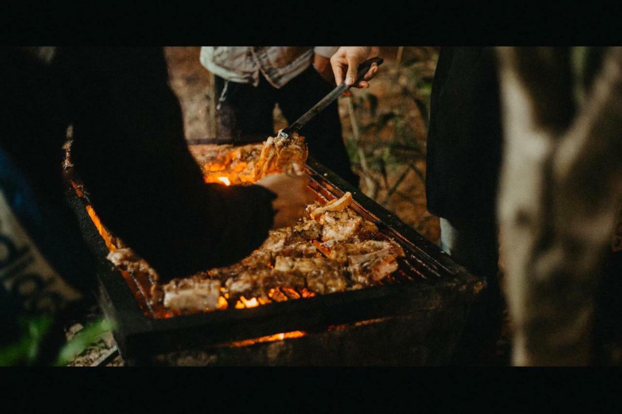
[[[37,363],[53,362],[67,310],[94,287],[95,260],[63,199],[70,124],[75,171],[93,208],[162,282],[242,259],[312,200],[301,177],[203,182],[162,48],[2,48],[0,67],[0,351],[7,354],[24,349],[10,346],[20,320],[38,321],[26,348],[41,347]]]

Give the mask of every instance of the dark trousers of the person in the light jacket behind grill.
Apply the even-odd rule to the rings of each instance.
[[[218,142],[243,144],[261,142],[274,136],[274,105],[292,124],[333,89],[313,65],[280,89],[262,76],[259,85],[225,81],[216,78]],[[346,181],[358,186],[359,177],[352,172],[348,152],[341,136],[337,102],[317,114],[300,130],[309,145],[309,154]]]

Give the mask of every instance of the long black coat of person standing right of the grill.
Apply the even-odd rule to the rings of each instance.
[[[430,96],[430,213],[450,221],[493,221],[502,147],[494,48],[442,47]]]

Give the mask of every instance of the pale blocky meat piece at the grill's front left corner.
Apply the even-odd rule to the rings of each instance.
[[[176,278],[162,286],[164,307],[174,310],[204,311],[218,307],[220,280],[202,277]]]

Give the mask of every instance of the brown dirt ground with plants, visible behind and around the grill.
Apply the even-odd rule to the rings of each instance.
[[[187,139],[210,137],[213,131],[210,73],[200,65],[199,52],[199,47],[165,48],[170,86],[180,99]],[[439,219],[425,208],[427,111],[438,49],[383,47],[380,55],[385,62],[371,87],[355,90],[353,98],[339,99],[343,137],[366,195],[438,243]],[[274,118],[275,130],[287,126],[278,108]],[[68,337],[81,325],[72,326]],[[507,337],[506,324],[498,349],[487,364],[507,364]],[[106,366],[121,366],[115,348],[114,341],[106,336],[69,365],[104,361]]]

